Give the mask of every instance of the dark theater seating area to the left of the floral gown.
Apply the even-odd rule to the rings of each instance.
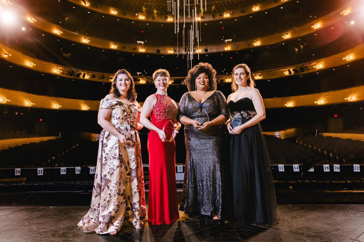
[[[0,151],[0,167],[95,164],[95,145],[91,141],[58,138],[15,146]]]

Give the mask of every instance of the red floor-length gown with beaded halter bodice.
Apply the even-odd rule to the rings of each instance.
[[[175,121],[177,106],[170,97],[154,94],[157,102],[150,114],[152,123],[163,129],[169,120]],[[170,224],[179,219],[175,142],[162,142],[158,133],[151,130],[148,137],[149,151],[149,203],[148,222],[153,225]]]

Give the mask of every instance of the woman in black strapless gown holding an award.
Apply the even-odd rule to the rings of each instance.
[[[242,223],[273,225],[278,221],[276,195],[268,150],[259,124],[265,118],[262,97],[254,88],[250,68],[233,69],[234,93],[227,98],[232,134],[230,158],[234,218]],[[242,124],[233,128],[231,118],[240,114]],[[238,114],[238,115],[239,115]]]

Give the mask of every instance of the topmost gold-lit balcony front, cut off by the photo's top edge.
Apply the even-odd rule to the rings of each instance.
[[[168,23],[169,21],[171,21],[171,19],[173,20],[173,15],[172,15],[172,12],[170,12],[170,14],[168,15],[167,14],[167,18],[166,18],[166,15],[163,14],[163,15],[158,15],[156,11],[156,9],[153,9],[153,13],[148,13],[147,12],[147,9],[144,7],[144,11],[142,10],[143,9],[143,4],[142,3],[139,3],[139,4],[136,4],[134,3],[134,5],[138,5],[138,9],[140,9],[138,11],[138,9],[135,9],[134,11],[130,11],[130,10],[123,10],[123,9],[120,9],[116,6],[110,6],[110,5],[104,5],[104,4],[100,4],[98,3],[98,1],[92,1],[92,0],[68,0],[70,1],[71,3],[75,3],[77,5],[80,5],[82,7],[85,7],[85,8],[88,8],[92,11],[96,11],[96,12],[100,12],[100,13],[104,13],[104,14],[108,14],[108,15],[112,15],[112,16],[115,16],[115,17],[118,17],[118,18],[124,18],[124,19],[131,19],[131,20],[145,20],[145,21],[155,21],[155,22],[161,22],[161,23]],[[291,0],[277,0],[277,1],[273,1],[273,0],[264,0],[262,1],[261,3],[256,3],[256,4],[253,4],[249,7],[245,7],[245,8],[240,8],[240,9],[236,9],[236,6],[238,5],[238,2],[241,2],[240,1],[234,1],[234,0],[224,0],[224,1],[207,1],[207,4],[211,5],[211,10],[213,8],[213,3],[221,3],[221,4],[224,4],[225,2],[232,2],[234,4],[232,4],[233,9],[229,9],[229,8],[226,8],[228,10],[226,11],[223,11],[221,13],[214,13],[214,16],[212,13],[204,13],[203,14],[203,19],[201,19],[201,21],[213,21],[213,20],[221,20],[221,19],[229,19],[229,18],[236,18],[236,17],[241,17],[241,16],[244,16],[244,15],[248,15],[248,14],[252,14],[252,13],[255,13],[255,12],[259,12],[259,11],[264,11],[264,10],[267,10],[269,8],[274,8],[274,7],[277,7],[281,4],[284,4],[286,2],[289,2]],[[133,1],[130,1],[130,2],[133,2]],[[135,1],[134,1],[135,2]],[[154,1],[154,2],[158,2],[158,1]],[[163,0],[163,1],[159,1],[161,2],[162,4],[165,5],[165,7],[162,8],[164,9],[164,11],[167,12],[167,1],[166,0]],[[177,2],[177,1],[176,1]],[[189,1],[186,0],[186,4],[188,3]],[[190,0],[190,4],[191,4],[191,8],[194,8],[194,1],[193,0]],[[199,8],[199,5],[200,5],[200,1],[196,1],[197,3],[197,6]],[[94,5],[97,5],[97,8],[94,7]],[[131,3],[133,4],[133,3]],[[183,8],[182,8],[182,5],[183,5],[183,0],[180,0],[180,6],[181,6],[181,15],[182,15],[182,12],[183,12]],[[202,1],[202,6],[203,6],[203,9],[205,9],[205,0]],[[210,9],[209,9],[210,10]],[[186,7],[186,13],[188,11],[188,8]],[[137,13],[137,15],[136,15]],[[149,16],[149,17],[148,17]],[[187,22],[190,22],[192,21],[192,18],[188,17],[188,13],[185,17],[186,21]],[[183,21],[183,20],[182,20]]]

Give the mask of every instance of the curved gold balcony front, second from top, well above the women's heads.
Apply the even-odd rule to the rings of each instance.
[[[225,44],[217,44],[217,45],[200,45],[199,49],[194,48],[194,53],[204,53],[205,49],[209,53],[214,52],[229,52],[229,51],[240,51],[243,49],[252,49],[256,47],[261,47],[264,45],[271,45],[280,42],[284,42],[285,40],[298,38],[304,35],[308,35],[315,31],[318,31],[324,27],[330,26],[337,22],[347,22],[344,26],[348,28],[351,24],[350,21],[347,21],[348,15],[351,14],[354,10],[352,9],[353,4],[350,3],[345,7],[339,8],[337,11],[329,13],[321,18],[318,18],[314,21],[311,21],[305,25],[300,27],[296,27],[294,29],[287,29],[283,32],[270,35],[270,36],[262,36],[256,39],[244,40],[238,42],[229,42]],[[22,8],[23,9],[23,8]],[[348,14],[343,14],[343,11],[347,11]],[[131,53],[153,53],[159,55],[181,55],[182,48],[175,46],[150,46],[150,45],[142,45],[137,43],[120,43],[110,40],[103,40],[99,38],[95,38],[92,36],[83,35],[82,33],[69,31],[60,25],[50,23],[43,18],[28,13],[25,9],[23,9],[24,19],[28,21],[29,24],[33,25],[35,28],[41,29],[42,31],[48,32],[52,35],[58,36],[63,39],[67,39],[70,41],[74,41],[76,43],[81,43],[97,48],[102,49],[111,49],[115,51],[124,51]],[[335,30],[333,30],[335,31]],[[179,52],[178,52],[179,51]]]

